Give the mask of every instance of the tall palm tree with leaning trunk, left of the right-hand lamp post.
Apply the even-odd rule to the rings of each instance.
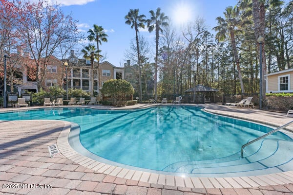
[[[244,24],[250,23],[250,21],[243,21],[240,17],[239,9],[235,6],[229,6],[225,9],[224,12],[225,19],[222,17],[217,17],[218,26],[214,27],[213,30],[217,31],[216,38],[219,41],[224,41],[227,38],[227,35],[230,36],[232,50],[234,59],[237,65],[238,77],[241,86],[241,92],[244,93],[244,85],[242,81],[241,69],[239,64],[239,57],[236,48],[235,35],[244,33],[240,27]]]

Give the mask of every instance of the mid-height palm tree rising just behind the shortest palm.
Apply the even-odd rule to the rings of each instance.
[[[108,42],[107,34],[105,34],[104,28],[102,26],[98,26],[94,24],[94,29],[89,29],[87,33],[87,39],[90,41],[97,42],[97,53],[100,55],[101,50],[99,50],[99,44],[102,45],[103,42]],[[98,78],[99,78],[99,89],[101,88],[101,74],[100,74],[100,58],[97,59],[98,61]],[[99,91],[98,91],[99,92]]]

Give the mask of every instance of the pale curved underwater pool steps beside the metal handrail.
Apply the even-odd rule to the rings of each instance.
[[[281,157],[286,154],[286,152],[290,152],[292,147],[293,142],[263,140],[258,144],[251,144],[247,147],[244,153],[245,157],[247,154],[251,155],[243,159],[239,159],[240,155],[237,153],[216,160],[178,162],[169,165],[163,171],[195,174],[222,174],[261,170],[290,161],[290,157]],[[255,152],[252,154],[252,151]]]

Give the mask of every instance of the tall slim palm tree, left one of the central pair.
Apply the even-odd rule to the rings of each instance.
[[[138,9],[130,9],[128,14],[125,16],[125,23],[131,25],[130,27],[135,30],[135,39],[136,39],[136,49],[137,49],[137,62],[139,66],[139,102],[142,102],[142,78],[141,78],[141,60],[140,60],[140,52],[139,52],[139,42],[138,42],[138,28],[145,28],[144,22],[146,21],[145,15],[138,15]]]

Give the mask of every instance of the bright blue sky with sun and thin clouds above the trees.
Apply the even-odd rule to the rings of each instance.
[[[139,14],[150,18],[149,11],[160,7],[178,32],[188,21],[204,18],[211,31],[217,25],[215,18],[224,17],[225,8],[236,5],[237,0],[60,0],[59,3],[62,4],[64,14],[71,14],[78,20],[78,29],[86,36],[93,24],[102,26],[108,35],[108,42],[102,42],[100,46],[102,55],[106,53],[108,62],[123,67],[127,60],[126,49],[129,48],[131,39],[135,38],[135,30],[125,24],[125,16],[130,9],[139,9]],[[141,29],[140,34],[146,37],[150,47],[154,49],[154,32]]]

